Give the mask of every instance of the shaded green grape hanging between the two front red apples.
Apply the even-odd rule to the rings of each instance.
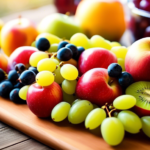
[[[76,85],[77,85],[76,80],[73,81],[64,80],[62,82],[61,87],[65,93],[72,95],[75,93]]]

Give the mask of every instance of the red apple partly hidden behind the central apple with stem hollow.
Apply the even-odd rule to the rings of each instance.
[[[117,63],[115,54],[103,48],[91,48],[80,55],[78,69],[82,75],[93,68],[107,68],[111,63]]]

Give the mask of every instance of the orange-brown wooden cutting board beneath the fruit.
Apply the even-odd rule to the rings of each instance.
[[[36,117],[27,105],[0,98],[0,121],[55,149],[63,150],[150,150],[150,139],[142,132],[127,134],[119,146],[111,147],[99,128],[88,131],[84,124],[72,125],[66,119],[54,123]]]

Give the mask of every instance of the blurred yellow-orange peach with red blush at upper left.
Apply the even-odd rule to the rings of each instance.
[[[1,48],[7,56],[20,46],[30,46],[38,32],[26,18],[9,21],[1,30]]]

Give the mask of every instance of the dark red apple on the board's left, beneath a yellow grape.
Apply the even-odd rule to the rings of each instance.
[[[47,87],[32,84],[27,93],[27,105],[38,117],[49,117],[54,106],[62,99],[62,89],[56,82]]]

